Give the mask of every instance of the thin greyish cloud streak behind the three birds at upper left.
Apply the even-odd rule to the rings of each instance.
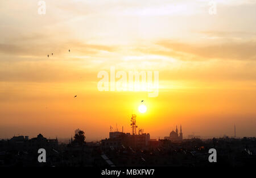
[[[63,55],[68,53],[68,49],[71,49],[73,54],[79,55],[96,55],[101,51],[114,52],[117,47],[113,45],[101,45],[101,44],[88,44],[82,43],[76,40],[71,42],[54,42],[53,40],[44,40],[44,42],[28,42],[28,40],[35,39],[34,36],[21,37],[13,40],[13,43],[0,44],[0,53],[7,55],[19,56],[26,55],[32,57],[42,57],[55,53],[57,55]],[[22,40],[22,42],[20,42]],[[59,56],[60,57],[60,56]]]

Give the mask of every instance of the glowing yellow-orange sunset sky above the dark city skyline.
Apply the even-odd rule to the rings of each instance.
[[[256,136],[256,1],[44,2],[0,2],[0,138],[99,140],[131,114],[151,138]],[[111,67],[158,72],[158,96],[99,91]]]

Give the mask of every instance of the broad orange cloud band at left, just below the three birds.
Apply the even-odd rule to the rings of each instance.
[[[86,63],[84,63],[86,64]],[[89,64],[88,64],[89,65]],[[80,82],[97,81],[97,72],[83,69],[81,63],[60,61],[21,61],[2,63],[1,82]]]

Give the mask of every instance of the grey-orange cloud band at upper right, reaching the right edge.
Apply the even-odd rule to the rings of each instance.
[[[256,60],[256,42],[253,41],[199,46],[163,40],[156,44],[166,48],[166,50],[156,51],[159,55],[172,56],[181,53],[181,60],[186,60],[184,54],[197,56],[201,60]]]

